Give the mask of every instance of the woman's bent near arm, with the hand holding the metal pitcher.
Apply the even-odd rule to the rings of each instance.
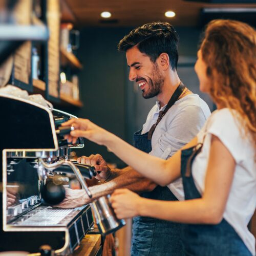
[[[182,223],[217,224],[222,220],[235,164],[227,148],[212,135],[202,198],[158,201],[141,198],[127,189],[118,189],[111,197],[112,206],[120,219],[140,215]]]

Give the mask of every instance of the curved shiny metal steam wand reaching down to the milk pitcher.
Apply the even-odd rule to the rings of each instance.
[[[42,164],[42,166],[44,166],[46,169],[51,170],[52,172],[55,171],[56,168],[58,168],[61,165],[68,165],[71,167],[71,169],[73,170],[74,174],[76,175],[76,178],[78,179],[78,181],[80,182],[82,188],[84,190],[86,190],[87,195],[92,198],[92,194],[91,191],[89,190],[88,186],[86,185],[86,182],[84,182],[84,179],[78,169],[78,167],[75,166],[75,164],[73,164],[71,161],[69,160],[59,160],[55,163],[46,163],[42,158],[39,158],[39,163]]]

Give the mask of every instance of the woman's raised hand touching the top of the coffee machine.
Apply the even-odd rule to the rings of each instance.
[[[72,118],[61,125],[75,127],[74,131],[71,131],[69,135],[64,137],[73,144],[76,142],[78,137],[84,137],[99,145],[104,145],[104,142],[111,137],[111,133],[102,129],[88,119]]]

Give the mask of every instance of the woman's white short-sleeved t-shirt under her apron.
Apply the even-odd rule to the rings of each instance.
[[[229,109],[212,113],[198,134],[198,141],[202,142],[203,139],[204,141],[202,151],[193,162],[192,172],[195,184],[203,194],[211,135],[217,136],[236,161],[223,218],[236,230],[252,255],[255,255],[255,239],[247,228],[256,207],[255,150],[250,136],[241,133],[239,121]]]

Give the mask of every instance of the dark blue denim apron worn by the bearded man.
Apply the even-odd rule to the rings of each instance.
[[[134,145],[146,153],[152,151],[151,140],[147,134],[138,131],[134,134]],[[151,192],[141,194],[142,197],[175,201],[178,200],[168,187],[157,186]],[[132,256],[182,256],[183,246],[180,238],[181,224],[153,218],[137,216],[133,218]]]

